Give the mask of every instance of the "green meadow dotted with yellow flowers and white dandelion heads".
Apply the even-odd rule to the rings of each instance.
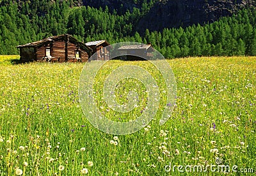
[[[216,163],[230,166],[230,175],[256,173],[255,57],[169,60],[177,81],[170,120],[157,124],[159,106],[145,129],[125,136],[100,132],[84,117],[78,102],[83,64],[12,65],[12,58],[0,56],[0,175],[226,175],[218,166],[211,170]],[[110,61],[103,71],[127,63]],[[129,64],[150,69],[145,61]],[[164,104],[162,78],[152,74]],[[135,88],[145,96],[143,85]],[[95,92],[100,99],[100,86]],[[99,107],[109,112],[106,104]]]

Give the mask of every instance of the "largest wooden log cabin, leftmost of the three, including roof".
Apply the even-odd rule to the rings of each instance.
[[[71,35],[50,36],[44,40],[17,46],[20,61],[88,61],[92,49]]]

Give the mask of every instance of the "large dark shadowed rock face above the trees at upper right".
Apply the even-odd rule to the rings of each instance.
[[[232,15],[243,4],[241,1],[179,1],[156,3],[150,12],[140,20],[138,30],[161,30],[163,28],[189,26],[213,22],[220,17]]]

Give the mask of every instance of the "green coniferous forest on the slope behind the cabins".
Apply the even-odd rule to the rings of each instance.
[[[256,11],[244,8],[230,17],[188,27],[143,33],[136,25],[154,1],[124,13],[77,5],[75,1],[0,1],[0,54],[19,54],[17,45],[68,33],[80,41],[151,43],[166,58],[256,56]]]

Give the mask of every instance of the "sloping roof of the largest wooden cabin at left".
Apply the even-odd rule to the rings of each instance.
[[[58,35],[58,36],[49,36],[48,38],[44,38],[43,40],[39,40],[36,42],[31,42],[28,44],[24,44],[24,45],[18,45],[18,48],[22,48],[22,47],[36,47],[39,45],[44,45],[47,44],[49,42],[52,41],[58,41],[58,40],[65,40],[65,38],[68,38],[69,42],[71,42],[72,44],[77,44],[79,45],[79,47],[82,47],[83,49],[86,49],[87,51],[92,51],[92,49],[90,47],[88,47],[87,45],[85,45],[82,42],[79,42],[76,38],[74,38],[71,35],[65,34],[65,35]],[[66,40],[67,40],[66,38]]]

